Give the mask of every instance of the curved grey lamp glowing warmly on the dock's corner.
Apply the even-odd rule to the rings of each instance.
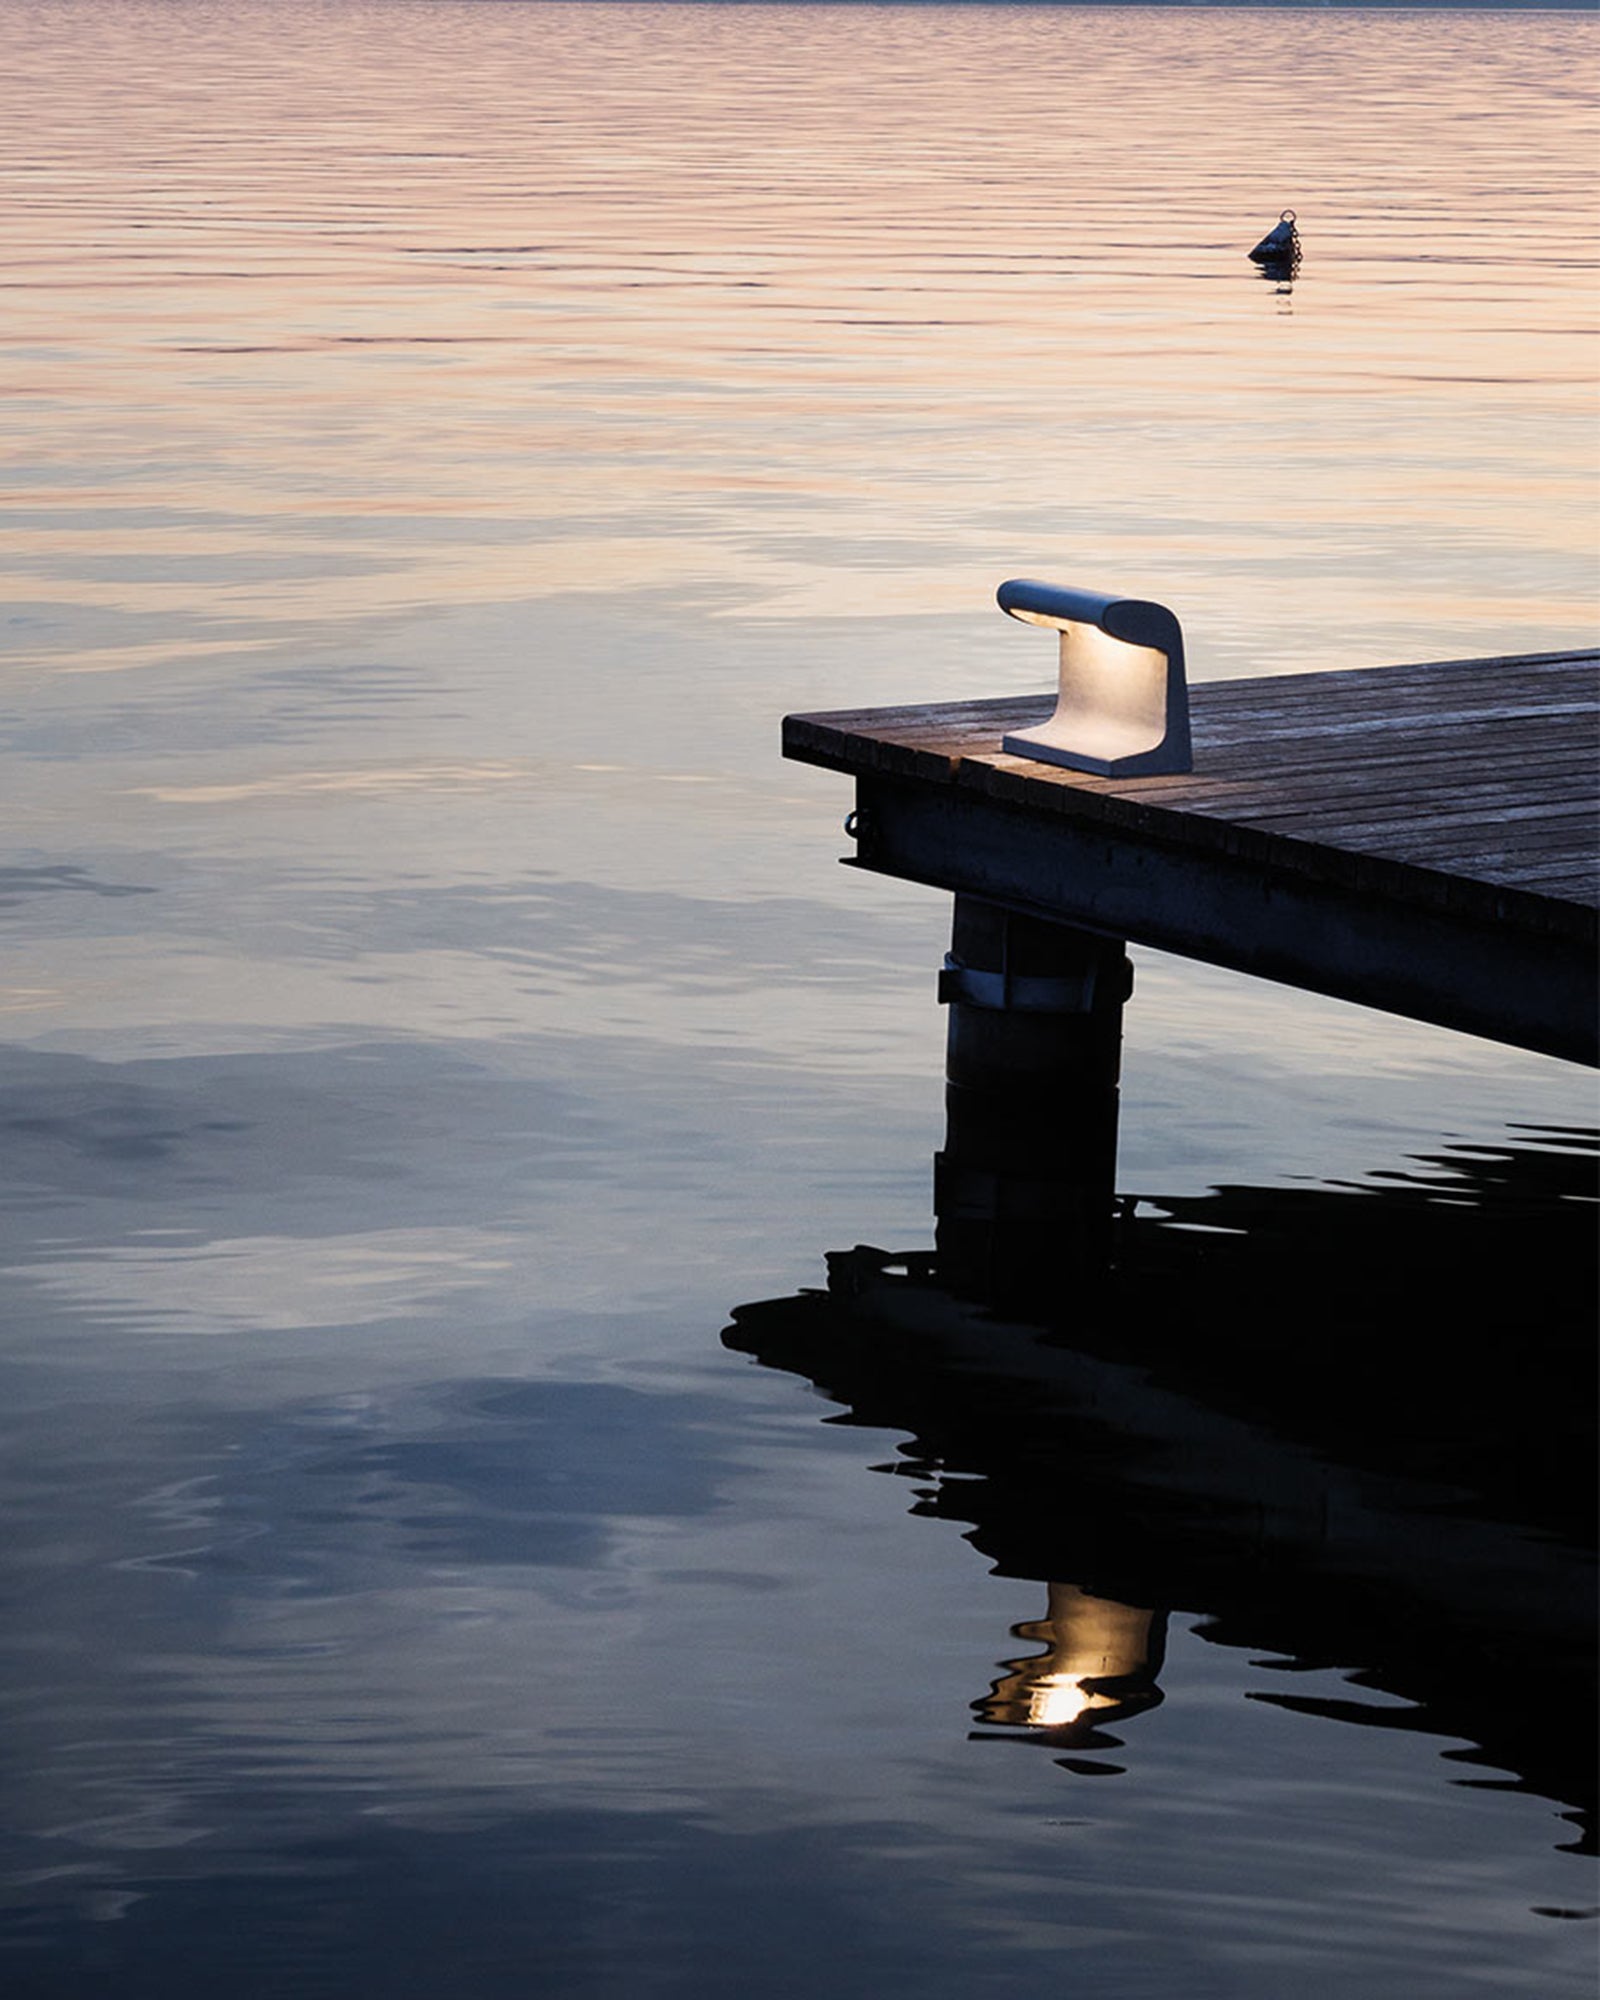
[[[1194,768],[1184,634],[1164,604],[1026,578],[1000,584],[998,598],[1012,618],[1062,636],[1054,716],[1014,730],[1004,750],[1102,778]]]

